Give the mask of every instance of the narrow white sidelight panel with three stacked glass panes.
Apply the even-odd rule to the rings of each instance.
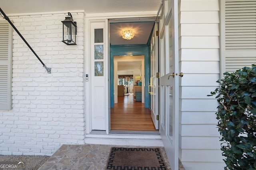
[[[107,86],[106,86],[106,49],[105,49],[105,23],[91,23],[91,57],[90,61],[90,108],[91,130],[107,130]]]

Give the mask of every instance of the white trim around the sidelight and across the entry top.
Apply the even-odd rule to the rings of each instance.
[[[91,70],[91,60],[92,60],[92,50],[91,50],[91,39],[94,37],[91,37],[91,24],[98,22],[98,23],[104,23],[104,75],[106,75],[104,79],[104,84],[106,88],[106,92],[104,93],[107,98],[104,100],[105,103],[105,123],[106,123],[106,131],[105,134],[109,134],[110,130],[110,90],[109,90],[109,75],[110,75],[110,69],[109,69],[109,19],[118,19],[120,16],[122,18],[150,18],[152,16],[155,16],[154,12],[138,12],[134,14],[134,12],[126,12],[126,13],[110,13],[110,14],[87,14],[85,17],[85,53],[84,53],[84,68],[85,68],[85,75],[84,75],[84,106],[85,106],[85,121],[86,121],[86,127],[85,127],[85,133],[91,134],[92,132],[92,104],[91,97],[93,94],[91,92],[92,89],[92,75],[94,72]],[[88,74],[88,82],[86,82],[86,74]],[[139,138],[139,137],[138,137]]]

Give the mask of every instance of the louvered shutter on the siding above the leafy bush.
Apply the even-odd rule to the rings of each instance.
[[[256,0],[225,0],[225,71],[256,63]]]

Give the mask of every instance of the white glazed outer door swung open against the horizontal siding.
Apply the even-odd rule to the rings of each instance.
[[[170,10],[162,12],[160,18],[160,134],[171,168],[178,170],[178,2],[171,3]]]

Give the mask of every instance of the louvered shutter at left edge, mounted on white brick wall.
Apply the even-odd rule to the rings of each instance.
[[[12,108],[12,27],[0,21],[0,110]]]

